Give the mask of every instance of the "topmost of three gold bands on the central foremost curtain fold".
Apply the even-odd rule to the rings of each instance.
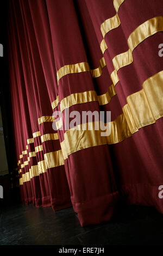
[[[104,68],[104,66],[106,66],[104,57],[102,57],[99,60],[99,67],[96,69],[90,69],[89,63],[87,62],[81,62],[81,63],[62,66],[57,71],[57,82],[59,83],[59,80],[68,74],[74,74],[74,73],[80,73],[80,72],[86,72],[86,71],[91,72],[92,77],[99,77],[102,75],[102,69]],[[56,105],[56,103],[54,105]]]

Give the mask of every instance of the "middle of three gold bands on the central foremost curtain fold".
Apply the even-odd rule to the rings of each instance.
[[[102,95],[97,95],[96,91],[90,90],[83,93],[73,93],[60,101],[60,111],[76,104],[98,101],[99,105],[105,105],[116,95],[114,84],[109,86],[108,91]]]

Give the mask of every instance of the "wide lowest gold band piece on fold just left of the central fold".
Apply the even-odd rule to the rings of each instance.
[[[44,154],[44,158],[47,169],[64,165],[62,150]]]

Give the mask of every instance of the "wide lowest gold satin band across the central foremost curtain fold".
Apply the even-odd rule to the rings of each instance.
[[[111,122],[110,136],[101,136],[102,131],[95,130],[96,123],[99,122],[86,123],[86,130],[82,130],[82,125],[77,125],[77,129],[70,129],[65,132],[65,139],[60,143],[64,159],[67,159],[68,155],[81,149],[95,147],[97,145],[115,144],[131,136],[123,114]],[[93,126],[93,130],[88,130],[89,125]]]

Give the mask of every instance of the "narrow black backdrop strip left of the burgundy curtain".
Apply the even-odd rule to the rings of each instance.
[[[0,8],[0,43],[3,45],[3,57],[0,57],[0,105],[2,111],[3,132],[9,175],[0,176],[0,185],[3,186],[3,199],[0,205],[17,201],[18,187],[15,186],[16,156],[14,153],[14,141],[12,136],[12,118],[9,87],[9,62],[8,62],[8,0],[1,1]],[[0,152],[1,154],[1,152]],[[1,163],[0,163],[1,166]]]

